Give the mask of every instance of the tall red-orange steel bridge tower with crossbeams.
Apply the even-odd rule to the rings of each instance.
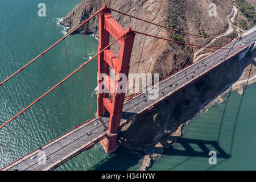
[[[118,147],[117,130],[119,129],[122,118],[125,93],[119,93],[117,89],[126,88],[127,82],[124,84],[123,75],[128,78],[131,51],[133,49],[135,36],[134,31],[132,31],[130,27],[128,30],[125,30],[125,28],[115,21],[110,13],[111,11],[106,7],[106,4],[102,8],[101,13],[99,13],[98,52],[109,44],[110,35],[115,39],[122,35],[123,37],[118,40],[118,43],[120,44],[119,58],[115,56],[110,49],[105,50],[98,56],[97,115],[98,117],[103,117],[106,111],[109,111],[110,114],[108,138],[105,138],[100,142],[107,154],[114,152]],[[109,76],[109,67],[114,69],[116,75],[115,81]],[[102,93],[102,90],[100,89],[104,90],[104,93]],[[109,93],[113,95],[112,101],[109,100]]]

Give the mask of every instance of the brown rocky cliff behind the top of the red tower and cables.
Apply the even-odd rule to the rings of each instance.
[[[122,11],[124,13],[137,16],[149,20],[150,22],[163,24],[171,28],[177,28],[185,32],[193,34],[201,34],[207,36],[217,36],[225,31],[228,27],[226,15],[232,9],[231,1],[215,0],[217,5],[217,16],[210,17],[208,5],[210,0],[133,0],[133,1],[110,1],[110,0],[86,0],[77,5],[63,19],[64,26],[69,27],[69,31],[77,27],[90,15],[98,11],[104,2],[107,2],[109,7]],[[112,13],[113,17],[125,28],[132,26],[134,30],[146,32],[152,35],[162,36],[176,40],[185,40],[186,42],[206,44],[210,41],[207,38],[197,38],[195,36],[186,36],[177,34],[174,31],[167,31],[164,28],[158,28],[154,25],[143,23],[139,20],[121,16],[117,13]],[[97,18],[92,19],[86,28],[82,27],[75,33],[81,34],[98,34]],[[139,64],[139,56],[141,55],[144,36],[136,35],[133,55],[130,63],[130,73],[137,72]],[[178,47],[177,47],[178,46]],[[176,50],[179,50],[176,52]],[[118,46],[112,47],[113,52],[118,56]],[[190,57],[193,57],[193,51]],[[173,69],[179,69],[183,64],[185,55],[189,52],[189,47],[176,45],[164,40],[156,40],[147,37],[144,44],[144,49],[139,64],[138,73],[160,73],[160,78],[170,75]],[[183,55],[184,59],[178,59],[177,55]]]

